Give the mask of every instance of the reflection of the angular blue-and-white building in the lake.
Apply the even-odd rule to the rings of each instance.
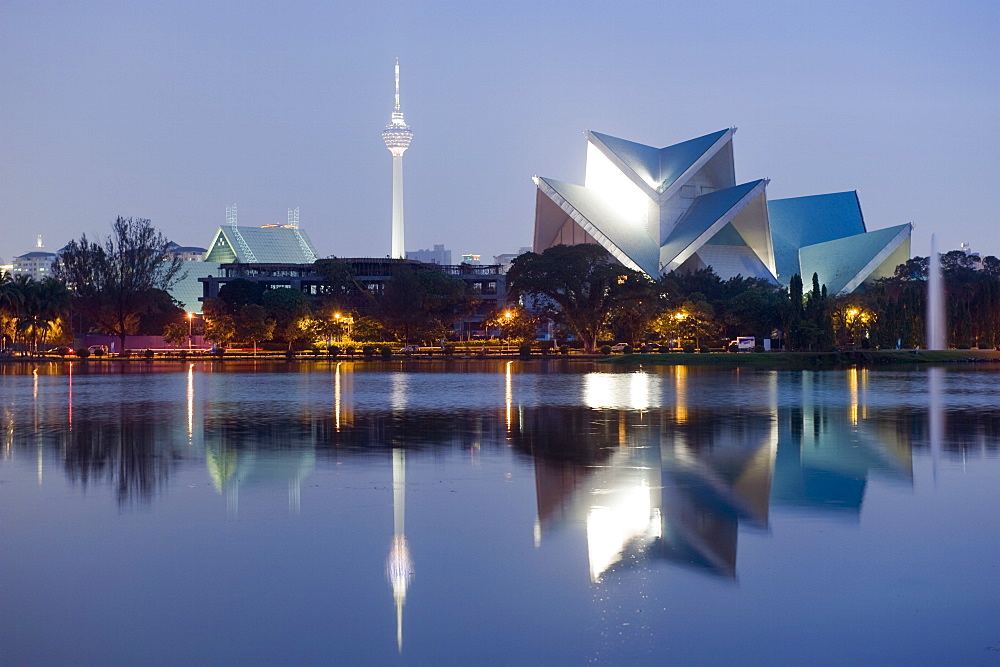
[[[777,373],[763,386],[755,378],[762,395],[743,409],[689,407],[682,368],[666,369],[668,382],[646,380],[662,396],[659,409],[643,409],[642,385],[629,379],[640,374],[593,374],[588,414],[525,411],[519,436],[535,458],[536,544],[583,523],[595,582],[648,560],[734,578],[740,528],[767,530],[772,507],[857,517],[870,474],[912,482],[908,433],[869,419],[865,371],[847,374],[846,410],[814,400],[837,377],[811,372],[781,404]]]

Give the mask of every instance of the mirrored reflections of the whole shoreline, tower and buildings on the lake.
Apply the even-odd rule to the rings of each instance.
[[[533,468],[536,545],[579,531],[587,576],[600,583],[654,561],[735,578],[740,531],[766,533],[773,511],[856,521],[873,476],[914,483],[914,450],[937,460],[996,453],[1000,441],[1000,407],[948,398],[949,384],[992,377],[940,369],[929,395],[913,374],[880,374],[887,397],[866,370],[561,374],[508,361],[448,374],[336,362],[302,373],[254,366],[251,377],[194,363],[173,373],[80,366],[0,373],[3,457],[30,453],[39,484],[58,466],[122,506],[150,503],[195,461],[228,516],[239,517],[241,493],[274,488],[297,516],[318,469],[391,459],[386,569],[400,650],[408,457],[465,450],[476,464],[481,450],[513,448]]]

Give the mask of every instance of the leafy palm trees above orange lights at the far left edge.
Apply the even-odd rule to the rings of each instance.
[[[8,343],[29,352],[66,342],[70,294],[58,280],[0,272],[0,349]]]

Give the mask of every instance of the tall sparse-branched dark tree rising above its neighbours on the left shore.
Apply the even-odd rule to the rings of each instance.
[[[168,290],[180,280],[183,260],[149,220],[118,217],[103,243],[86,234],[59,253],[54,275],[73,294],[75,308],[100,331],[125,337],[138,330],[140,316],[154,290]]]

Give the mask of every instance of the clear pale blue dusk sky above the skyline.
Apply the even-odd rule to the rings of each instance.
[[[301,224],[389,251],[380,133],[402,67],[407,248],[530,245],[534,174],[582,183],[586,129],[656,146],[726,127],[771,199],[858,190],[913,251],[1000,255],[1000,3],[0,4],[0,257],[151,218],[205,246]]]

